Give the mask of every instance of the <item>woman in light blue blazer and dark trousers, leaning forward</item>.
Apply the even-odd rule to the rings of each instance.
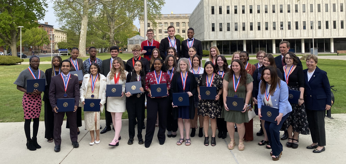
[[[269,145],[272,148],[270,155],[273,161],[280,159],[282,155],[282,144],[280,142],[280,128],[292,111],[292,106],[288,102],[287,84],[277,77],[276,69],[273,66],[263,68],[261,74],[260,88],[257,96],[258,117],[261,119],[262,105],[279,109],[279,116],[275,118],[277,124],[268,121],[264,122],[264,128],[268,136]]]

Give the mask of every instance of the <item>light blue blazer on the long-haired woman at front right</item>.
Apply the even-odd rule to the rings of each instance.
[[[260,82],[261,86],[262,80]],[[279,113],[282,113],[283,116],[292,112],[292,106],[288,102],[288,87],[285,81],[280,80],[279,82],[281,86],[276,85],[276,89],[274,91],[274,94],[270,96],[273,107],[279,109]],[[265,99],[265,93],[261,94],[261,89],[258,89],[258,96],[257,96],[257,105],[258,108],[261,108],[263,103],[263,100]]]

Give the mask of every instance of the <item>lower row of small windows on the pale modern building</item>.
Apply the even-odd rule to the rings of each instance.
[[[294,22],[294,27],[296,30],[299,30],[299,22],[296,21]],[[322,29],[322,25],[321,25],[321,21],[318,21],[318,29]],[[268,30],[268,22],[265,22],[265,28],[264,30]],[[325,29],[329,29],[329,21],[326,21],[325,23],[326,28]],[[333,21],[333,29],[336,29],[336,21]],[[223,29],[222,23],[219,23],[219,31],[222,31]],[[280,29],[283,30],[283,22],[280,22]],[[291,30],[291,22],[287,23],[287,30]],[[313,29],[313,23],[310,22],[310,29]],[[344,21],[340,21],[340,29],[344,29]],[[250,22],[250,31],[253,31],[253,22]],[[257,30],[260,31],[261,30],[261,22],[257,22]],[[273,30],[276,30],[276,22],[273,22]],[[303,21],[303,30],[306,30],[306,21]],[[211,23],[211,31],[215,31],[215,23]],[[227,23],[227,31],[230,31],[230,23]],[[234,31],[238,31],[238,23],[234,23]],[[242,31],[245,31],[245,23],[242,23]]]

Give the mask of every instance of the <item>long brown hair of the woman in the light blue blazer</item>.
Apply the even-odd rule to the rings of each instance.
[[[269,88],[269,93],[270,95],[273,95],[276,89],[276,85],[279,85],[279,87],[281,87],[281,83],[280,83],[281,79],[277,76],[276,68],[274,68],[273,66],[267,66],[263,68],[262,70],[262,74],[261,74],[262,83],[260,86],[261,94],[265,93],[265,89],[267,87],[267,81],[265,81],[263,78],[264,70],[267,70],[267,69],[270,71],[271,84],[272,84]]]

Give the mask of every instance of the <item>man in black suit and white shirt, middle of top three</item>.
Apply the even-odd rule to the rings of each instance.
[[[165,52],[169,47],[174,47],[176,50],[176,55],[180,58],[180,40],[176,39],[174,34],[175,34],[175,28],[174,26],[168,26],[168,37],[163,38],[160,42],[160,56],[163,60],[166,59]]]

